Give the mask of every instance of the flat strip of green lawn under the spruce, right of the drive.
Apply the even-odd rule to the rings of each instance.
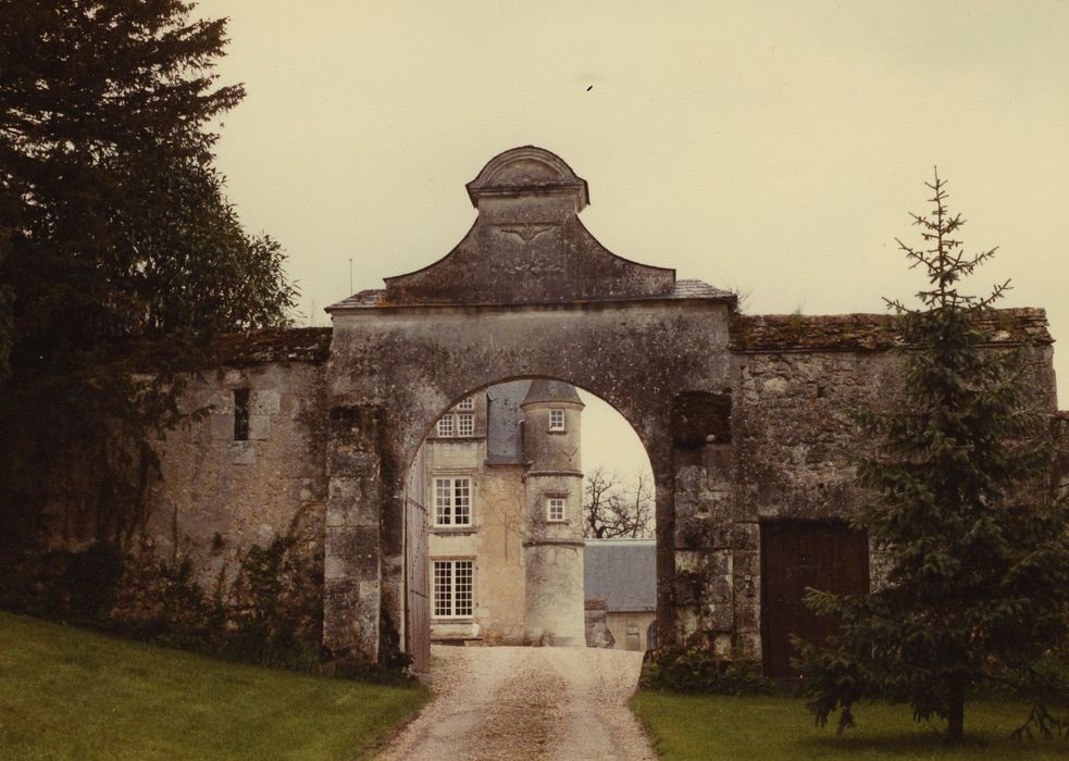
[[[966,741],[943,744],[943,722],[917,724],[908,706],[861,704],[857,727],[835,735],[835,714],[817,727],[804,701],[784,697],[638,693],[631,708],[664,759],[1067,759],[1069,743],[1017,743],[1026,711],[984,700],[966,706]]]

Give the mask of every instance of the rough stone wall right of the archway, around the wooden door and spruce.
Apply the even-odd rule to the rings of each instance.
[[[1053,349],[1042,310],[1006,310],[989,324],[992,351],[1035,341],[1027,349],[1033,400],[1054,413]],[[732,444],[724,458],[730,460],[733,495],[721,512],[721,529],[731,535],[731,559],[713,562],[720,557],[713,550],[692,562],[707,563],[713,574],[709,584],[720,592],[707,591],[708,602],[735,592],[736,643],[759,656],[760,522],[852,514],[863,495],[845,464],[858,435],[848,410],[895,404],[899,359],[890,349],[900,348],[902,339],[895,321],[883,315],[736,316],[732,330]],[[713,479],[724,464],[699,467],[689,478]],[[882,582],[878,557],[870,559],[870,574],[871,584]],[[704,623],[723,632],[728,621]],[[718,649],[726,646],[722,634],[717,643]]]

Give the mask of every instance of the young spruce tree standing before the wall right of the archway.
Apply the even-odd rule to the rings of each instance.
[[[930,287],[919,308],[888,301],[909,346],[900,404],[856,413],[873,441],[854,460],[872,495],[856,524],[890,571],[863,596],[810,590],[841,628],[823,646],[796,643],[808,706],[820,724],[841,709],[842,731],[862,699],[906,702],[917,721],[945,719],[956,743],[970,691],[992,682],[1032,706],[1015,734],[1065,736],[1069,506],[1049,411],[1030,399],[1028,348],[992,348],[984,328],[1008,283],[958,291],[995,250],[965,253],[946,183],[936,173],[928,186],[931,216],[912,215],[923,246],[898,245]]]

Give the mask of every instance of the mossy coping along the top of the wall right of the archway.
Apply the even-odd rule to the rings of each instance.
[[[1046,312],[1021,307],[995,310],[981,321],[992,344],[1053,344]],[[885,351],[904,346],[899,320],[890,314],[733,314],[729,347],[735,352]]]

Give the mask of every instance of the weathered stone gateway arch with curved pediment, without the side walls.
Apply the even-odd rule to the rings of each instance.
[[[756,609],[733,591],[736,576],[759,586],[732,476],[735,296],[608,251],[577,216],[585,180],[548,151],[506,151],[468,191],[478,214],[449,253],[330,309],[324,647],[406,649],[408,469],[445,410],[525,377],[597,394],[641,439],[661,644],[759,650]]]

